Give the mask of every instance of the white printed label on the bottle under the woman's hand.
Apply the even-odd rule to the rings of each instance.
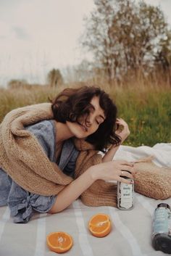
[[[119,201],[121,208],[133,207],[133,184],[120,183]]]

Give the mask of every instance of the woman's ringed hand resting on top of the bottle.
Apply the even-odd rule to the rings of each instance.
[[[98,165],[93,165],[91,167],[91,172],[94,181],[101,179],[104,181],[121,181],[129,184],[131,181],[128,181],[122,176],[131,179],[135,176],[133,163],[124,160],[101,162]]]

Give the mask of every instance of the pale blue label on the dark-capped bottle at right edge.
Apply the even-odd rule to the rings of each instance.
[[[154,231],[153,234],[166,233],[169,231],[170,210],[165,207],[159,207],[154,212]]]

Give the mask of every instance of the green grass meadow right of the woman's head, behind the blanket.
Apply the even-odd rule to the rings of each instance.
[[[115,98],[119,116],[130,128],[125,144],[154,146],[171,142],[171,89],[124,91]]]

